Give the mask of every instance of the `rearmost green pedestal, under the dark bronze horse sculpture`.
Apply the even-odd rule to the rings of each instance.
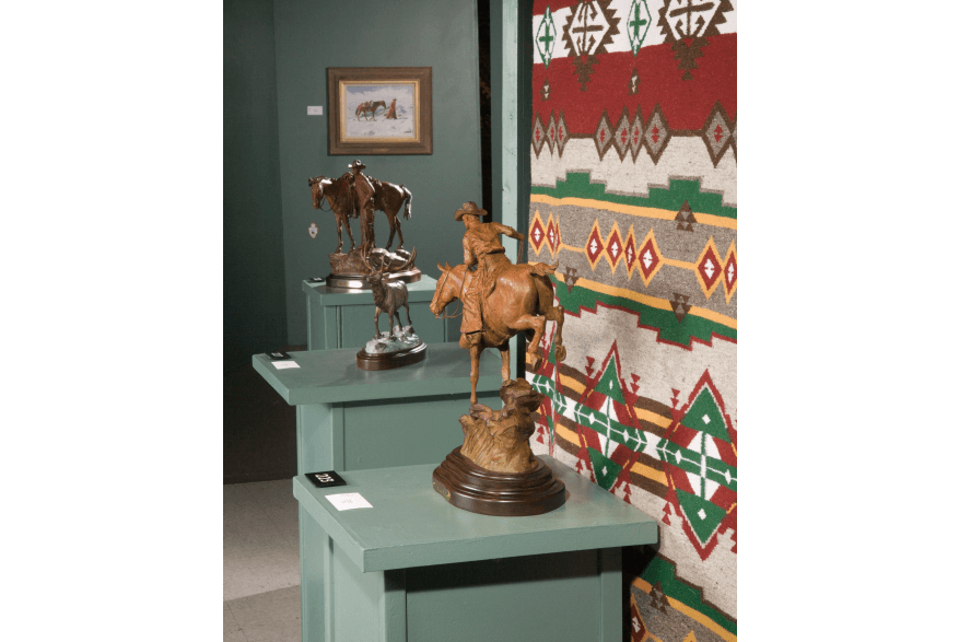
[[[407,283],[413,328],[426,343],[443,343],[454,338],[458,340],[459,334],[447,337],[445,322],[430,312],[430,302],[435,290],[436,279],[426,275],[416,283]],[[373,313],[376,306],[373,305],[373,293],[370,290],[337,291],[323,283],[303,281],[303,292],[306,294],[307,350],[359,350],[373,338]],[[406,308],[399,313],[402,315],[399,323],[407,325]],[[387,331],[388,326],[389,318],[381,314],[379,331]]]

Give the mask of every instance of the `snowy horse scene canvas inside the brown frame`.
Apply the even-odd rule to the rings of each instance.
[[[414,83],[343,83],[342,100],[344,141],[417,140]]]

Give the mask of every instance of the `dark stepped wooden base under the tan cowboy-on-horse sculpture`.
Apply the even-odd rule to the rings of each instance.
[[[566,487],[536,457],[528,472],[493,472],[480,468],[457,446],[433,470],[433,490],[471,513],[498,516],[541,515],[562,506]]]

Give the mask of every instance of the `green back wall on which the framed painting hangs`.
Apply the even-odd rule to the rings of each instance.
[[[463,260],[464,227],[453,212],[482,198],[477,9],[476,0],[276,0],[273,13],[285,323],[289,343],[299,345],[306,343],[301,283],[326,276],[336,249],[332,213],[313,209],[306,178],[339,176],[353,161],[327,154],[327,67],[433,68],[433,153],[360,157],[367,175],[412,192],[412,218],[402,229],[405,247],[417,247],[417,267],[437,278],[437,262]],[[307,116],[309,105],[323,105],[323,116]],[[315,240],[311,222],[319,227]],[[389,226],[382,212],[375,224],[383,245]],[[359,243],[359,225],[351,226]],[[346,231],[343,237],[349,247]]]

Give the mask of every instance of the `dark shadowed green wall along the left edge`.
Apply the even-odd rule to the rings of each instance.
[[[223,3],[223,371],[286,345],[270,0]],[[306,342],[305,340],[303,341]]]

